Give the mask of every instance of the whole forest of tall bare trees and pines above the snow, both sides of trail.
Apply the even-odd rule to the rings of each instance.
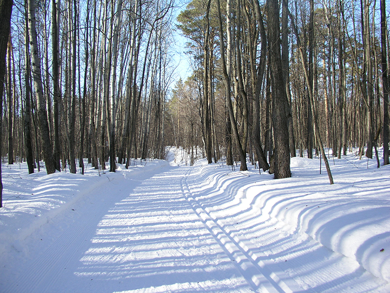
[[[0,0],[3,163],[115,172],[181,146],[190,165],[200,155],[276,179],[291,157],[318,156],[331,184],[330,157],[389,164],[385,0],[185,4]]]

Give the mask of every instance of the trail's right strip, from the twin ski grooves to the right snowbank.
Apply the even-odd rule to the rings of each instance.
[[[229,182],[233,177],[242,177],[240,172],[213,170],[215,175],[212,177],[215,178],[202,178],[200,169],[197,167],[193,174],[187,175],[186,197],[215,237],[229,239],[227,247],[234,246],[235,251],[230,253],[237,263],[241,262],[241,272],[255,291],[389,292],[386,282],[371,275],[357,262],[329,250],[306,233],[290,231],[288,223],[272,217],[264,220],[261,209],[256,208],[258,198],[246,197],[245,184],[251,179],[244,181],[241,188],[234,185],[236,189],[232,190]],[[246,270],[248,262],[254,267],[251,270]],[[260,272],[262,279],[254,272]],[[261,280],[260,285],[254,286],[254,280],[257,283]]]

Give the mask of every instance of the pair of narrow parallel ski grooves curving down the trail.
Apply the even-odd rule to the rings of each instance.
[[[188,177],[191,173],[188,170],[182,179],[182,191],[185,199],[188,201],[192,209],[198,215],[204,226],[213,235],[221,248],[235,262],[236,267],[242,273],[255,292],[261,293],[294,293],[304,291],[295,281],[289,277],[285,278],[284,272],[278,272],[278,275],[283,274],[283,279],[270,271],[266,267],[266,263],[259,259],[259,256],[253,252],[254,245],[243,235],[239,235],[233,228],[224,225],[221,220],[211,213],[211,210],[204,208],[195,198],[188,185]]]

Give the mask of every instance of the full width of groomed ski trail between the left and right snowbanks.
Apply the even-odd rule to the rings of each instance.
[[[0,292],[387,292],[357,262],[264,217],[258,195],[229,187],[239,172],[207,174],[115,177],[28,237],[0,269]]]

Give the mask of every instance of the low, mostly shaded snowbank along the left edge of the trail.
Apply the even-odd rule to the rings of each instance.
[[[104,184],[137,178],[145,173],[152,176],[157,169],[165,166],[165,161],[139,161],[129,169],[117,164],[115,173],[99,173],[94,168],[87,168],[86,175],[66,172],[47,175],[43,169],[28,175],[26,164],[3,165],[0,255],[12,248],[25,252],[26,247],[21,245],[21,241]]]

